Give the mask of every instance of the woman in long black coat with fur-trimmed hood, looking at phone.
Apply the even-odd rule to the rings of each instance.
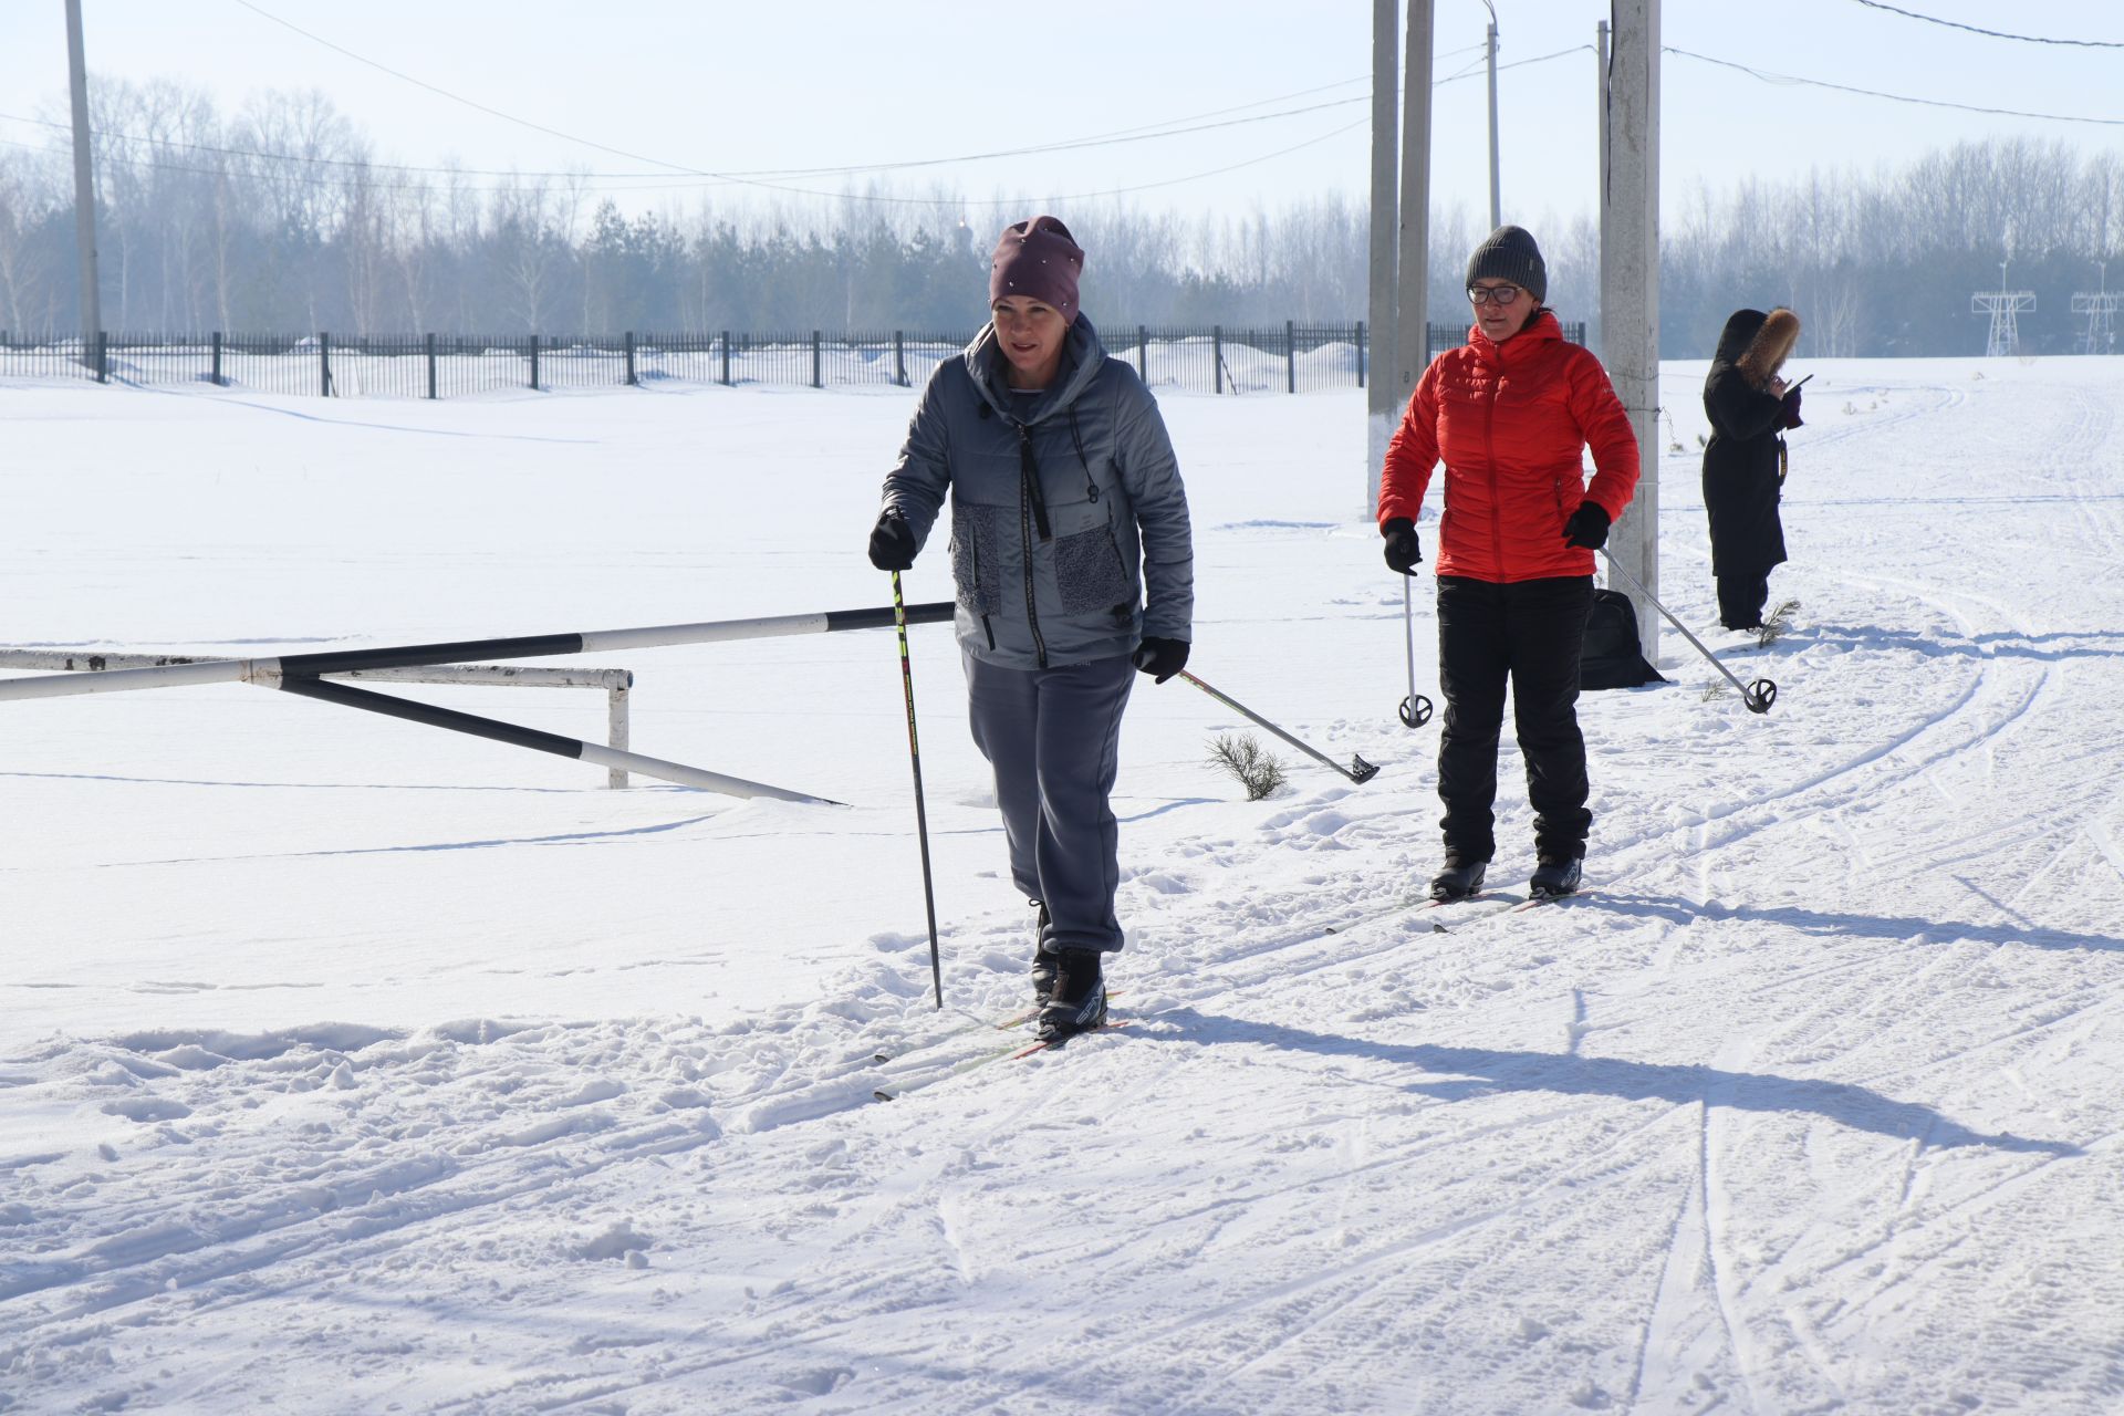
[[[1778,369],[1795,340],[1799,316],[1791,310],[1735,310],[1703,380],[1703,412],[1712,420],[1712,439],[1703,446],[1703,510],[1712,518],[1718,622],[1727,628],[1763,626],[1769,571],[1784,565],[1782,433],[1799,427],[1799,388],[1788,388]]]

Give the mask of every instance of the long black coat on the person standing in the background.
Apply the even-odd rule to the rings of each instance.
[[[1780,312],[1784,314],[1784,312]],[[1712,439],[1703,446],[1703,510],[1712,518],[1712,573],[1767,575],[1784,563],[1778,520],[1784,399],[1765,384],[1761,310],[1737,310],[1718,335],[1718,355],[1703,380],[1703,412]],[[1782,352],[1780,352],[1782,359]]]

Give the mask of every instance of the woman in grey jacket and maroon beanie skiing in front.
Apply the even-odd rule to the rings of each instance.
[[[1158,401],[1077,310],[1083,251],[1054,217],[1003,231],[990,323],[937,365],[886,478],[871,565],[905,571],[952,497],[973,741],[996,773],[1011,879],[1041,906],[1041,1038],[1107,1017],[1119,826],[1109,794],[1134,671],[1187,664],[1194,548]]]

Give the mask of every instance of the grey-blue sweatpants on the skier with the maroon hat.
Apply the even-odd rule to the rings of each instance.
[[[1117,953],[1121,828],[1107,796],[1134,664],[1121,654],[1062,669],[1000,669],[960,654],[973,745],[996,769],[1011,881],[1047,906],[1041,947]]]

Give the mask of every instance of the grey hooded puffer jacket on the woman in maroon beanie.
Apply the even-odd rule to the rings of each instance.
[[[994,327],[937,365],[886,478],[915,546],[945,490],[954,622],[975,658],[1056,669],[1130,654],[1145,635],[1192,639],[1194,537],[1172,442],[1081,314],[1037,395],[1005,384]]]

